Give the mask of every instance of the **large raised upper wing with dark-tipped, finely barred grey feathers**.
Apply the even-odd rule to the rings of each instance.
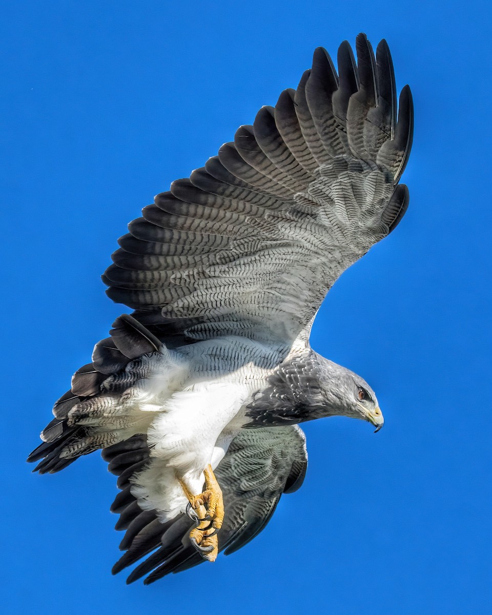
[[[386,41],[316,49],[297,90],[143,209],[108,295],[170,346],[234,333],[290,341],[339,275],[399,223],[413,107]],[[307,331],[308,333],[308,331]]]

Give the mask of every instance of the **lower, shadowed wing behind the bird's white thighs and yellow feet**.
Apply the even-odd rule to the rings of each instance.
[[[145,583],[201,563],[188,534],[192,522],[180,515],[161,523],[153,511],[141,510],[131,493],[131,478],[149,460],[145,435],[136,435],[103,450],[109,470],[118,475],[121,492],[111,506],[126,530],[120,548],[125,554],[114,565],[116,574],[148,555],[127,582],[145,574]],[[226,517],[218,534],[220,550],[233,553],[255,538],[271,518],[282,493],[296,491],[304,480],[308,456],[306,438],[297,426],[242,431],[232,441],[215,474],[224,494]]]

